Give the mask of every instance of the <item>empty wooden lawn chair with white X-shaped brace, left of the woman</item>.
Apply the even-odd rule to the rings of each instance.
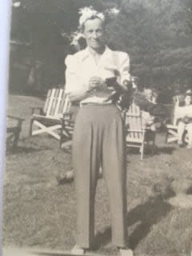
[[[30,135],[49,134],[61,144],[61,130],[68,136],[68,126],[62,126],[62,118],[70,123],[70,101],[63,89],[48,90],[44,108],[32,108],[30,119]],[[39,114],[34,111],[38,109]]]

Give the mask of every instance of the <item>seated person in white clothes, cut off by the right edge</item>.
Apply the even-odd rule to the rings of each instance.
[[[183,135],[187,129],[189,142],[188,148],[192,148],[192,91],[186,91],[186,97],[184,98],[184,105],[179,103],[178,108],[175,110],[175,116],[177,118],[178,125],[178,145],[183,145]]]

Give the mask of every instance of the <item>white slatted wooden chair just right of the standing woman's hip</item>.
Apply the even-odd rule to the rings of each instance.
[[[125,114],[125,128],[126,146],[139,148],[141,159],[143,159],[146,143],[152,142],[154,149],[155,133],[147,130],[146,126],[142,124],[141,110],[134,102],[130,104],[130,108]]]

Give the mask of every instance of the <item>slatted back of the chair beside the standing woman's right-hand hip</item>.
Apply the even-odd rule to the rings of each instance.
[[[142,128],[141,111],[133,102],[126,112],[126,141],[142,142],[144,129]]]

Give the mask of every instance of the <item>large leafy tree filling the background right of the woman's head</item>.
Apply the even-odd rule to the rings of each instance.
[[[186,2],[125,0],[109,41],[130,54],[131,73],[166,95],[176,82],[190,86],[191,38],[186,34]],[[168,91],[168,89],[170,89]]]

